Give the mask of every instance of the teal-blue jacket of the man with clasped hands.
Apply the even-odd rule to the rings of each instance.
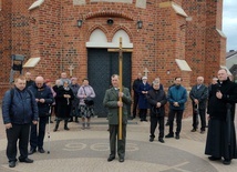
[[[184,110],[187,101],[187,90],[182,85],[174,85],[168,90],[168,102],[171,110]],[[174,102],[178,102],[179,107],[174,107]]]

